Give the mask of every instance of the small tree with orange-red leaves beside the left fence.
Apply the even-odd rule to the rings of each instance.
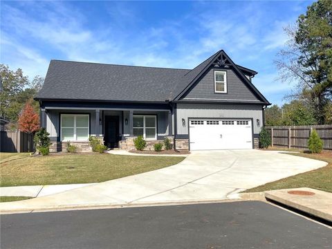
[[[21,116],[19,116],[19,129],[28,133],[39,130],[39,116],[29,102],[26,103]]]

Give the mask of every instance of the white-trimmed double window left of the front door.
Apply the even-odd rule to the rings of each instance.
[[[61,114],[61,140],[86,141],[89,139],[89,114]]]

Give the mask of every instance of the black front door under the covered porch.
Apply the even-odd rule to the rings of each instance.
[[[105,116],[105,145],[109,148],[118,148],[119,116]]]

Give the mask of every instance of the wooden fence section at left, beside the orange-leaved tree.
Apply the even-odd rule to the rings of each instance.
[[[0,131],[1,152],[31,152],[33,150],[33,134],[23,131]]]

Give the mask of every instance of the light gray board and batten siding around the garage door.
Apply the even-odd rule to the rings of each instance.
[[[183,118],[185,126],[182,124]],[[263,110],[258,104],[177,104],[176,124],[179,135],[188,134],[188,118],[252,118],[254,133],[258,134],[263,125]]]

